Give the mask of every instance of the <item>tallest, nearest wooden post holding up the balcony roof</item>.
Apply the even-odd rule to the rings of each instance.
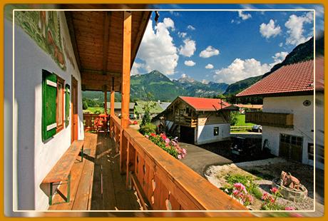
[[[122,62],[122,114],[121,114],[121,143],[120,143],[120,171],[126,173],[126,158],[128,143],[123,142],[123,130],[129,125],[130,103],[130,62],[131,62],[131,27],[132,14],[130,11],[123,12],[123,62]]]

